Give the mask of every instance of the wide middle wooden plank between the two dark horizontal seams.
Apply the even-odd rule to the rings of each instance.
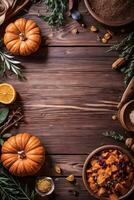
[[[19,131],[37,134],[49,154],[88,154],[111,143],[101,133],[120,129],[112,115],[124,87],[121,74],[111,70],[115,54],[104,57],[105,51],[51,47],[46,57],[43,48],[23,59],[27,81],[9,81],[24,104]]]

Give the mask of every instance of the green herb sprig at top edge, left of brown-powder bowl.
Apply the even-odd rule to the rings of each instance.
[[[50,11],[50,15],[40,17],[51,26],[64,24],[64,12],[67,8],[67,0],[43,0]]]

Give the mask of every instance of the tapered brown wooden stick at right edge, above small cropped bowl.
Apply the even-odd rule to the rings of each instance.
[[[131,79],[129,85],[124,91],[117,108],[120,109],[126,102],[128,102],[131,99],[133,94],[134,94],[134,77]]]

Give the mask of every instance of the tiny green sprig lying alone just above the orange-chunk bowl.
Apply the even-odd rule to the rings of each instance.
[[[115,131],[106,131],[106,132],[102,133],[102,135],[104,135],[106,137],[111,137],[111,138],[118,140],[118,141],[124,141],[125,140],[123,135],[121,135],[120,133],[117,133]]]

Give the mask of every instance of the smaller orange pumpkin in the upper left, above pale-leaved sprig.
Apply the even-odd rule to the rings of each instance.
[[[7,26],[5,32],[4,44],[14,55],[28,56],[36,52],[40,46],[40,29],[31,19],[17,19]]]

